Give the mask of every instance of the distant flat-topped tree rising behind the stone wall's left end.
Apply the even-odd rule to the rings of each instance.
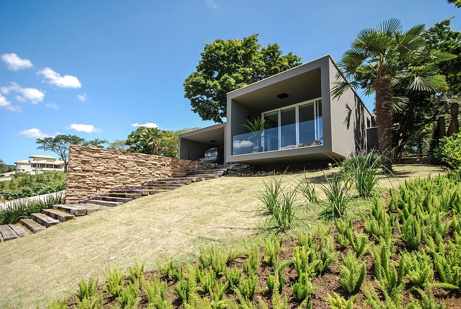
[[[64,171],[67,172],[67,163],[69,162],[69,147],[70,145],[90,146],[96,148],[103,148],[103,144],[107,144],[106,140],[91,140],[87,141],[76,135],[59,134],[55,137],[37,139],[37,147],[39,150],[52,151],[59,156],[59,159],[64,161]]]

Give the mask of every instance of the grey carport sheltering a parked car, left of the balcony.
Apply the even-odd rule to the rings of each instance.
[[[179,134],[178,158],[197,160],[203,158],[209,148],[224,148],[225,128],[226,123],[220,123]]]

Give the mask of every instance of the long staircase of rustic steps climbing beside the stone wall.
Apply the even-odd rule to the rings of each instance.
[[[197,170],[179,178],[159,178],[151,180],[140,188],[113,190],[78,204],[54,205],[44,209],[41,214],[31,214],[30,219],[20,219],[19,224],[0,225],[0,242],[37,233],[53,225],[86,216],[100,209],[115,207],[134,199],[174,190],[194,182],[216,179],[226,175],[229,170],[246,169],[247,165],[218,165],[214,169]]]

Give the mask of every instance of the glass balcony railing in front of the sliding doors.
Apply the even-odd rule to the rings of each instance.
[[[323,134],[315,133],[314,121],[301,122],[297,138],[296,124],[264,129],[232,137],[232,155],[308,147],[323,144]],[[317,130],[322,132],[321,128]],[[320,137],[319,137],[320,135]]]

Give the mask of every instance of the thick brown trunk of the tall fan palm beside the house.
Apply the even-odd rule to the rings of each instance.
[[[380,153],[383,156],[383,170],[391,172],[392,90],[389,76],[376,78],[374,89],[376,91],[376,124],[378,125]]]

